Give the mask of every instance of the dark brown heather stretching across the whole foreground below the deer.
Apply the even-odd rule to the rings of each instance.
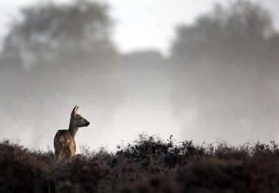
[[[278,192],[276,142],[232,146],[138,135],[116,153],[81,146],[72,162],[53,151],[0,143],[0,192]]]

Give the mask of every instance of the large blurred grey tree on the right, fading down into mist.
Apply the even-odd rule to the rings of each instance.
[[[278,85],[275,50],[269,12],[250,1],[217,4],[192,26],[179,26],[172,45],[177,111],[195,109],[202,131],[218,128],[222,135],[234,119],[239,129],[269,129],[272,137],[279,115],[278,90],[271,86]]]

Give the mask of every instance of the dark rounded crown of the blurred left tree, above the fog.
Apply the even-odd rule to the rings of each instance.
[[[22,8],[22,19],[10,25],[4,56],[26,68],[112,58],[116,50],[110,41],[112,19],[107,9],[106,4],[85,0]]]

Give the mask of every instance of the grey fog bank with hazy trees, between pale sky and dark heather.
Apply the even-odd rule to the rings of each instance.
[[[216,4],[174,28],[169,56],[121,53],[103,1],[34,3],[10,21],[0,53],[1,139],[53,150],[70,113],[92,149],[137,133],[195,143],[279,140],[279,33],[250,1]]]

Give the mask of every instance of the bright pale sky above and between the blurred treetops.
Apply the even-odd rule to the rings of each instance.
[[[7,33],[8,22],[17,11],[38,0],[0,0],[0,37]],[[43,0],[40,0],[43,1]],[[56,0],[57,2],[58,0]],[[69,1],[69,0],[59,0]],[[122,53],[136,49],[159,49],[167,55],[179,24],[190,24],[213,3],[227,0],[106,0],[116,21],[113,40]],[[271,11],[279,28],[279,0],[252,0]]]

